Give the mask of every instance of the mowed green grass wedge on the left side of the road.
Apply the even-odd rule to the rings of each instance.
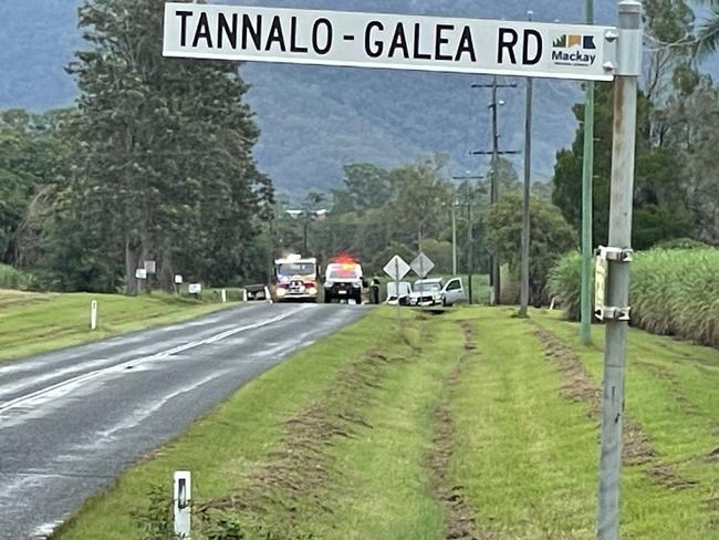
[[[94,332],[90,330],[93,300],[98,305]],[[190,319],[227,305],[161,293],[128,298],[0,289],[0,362]]]

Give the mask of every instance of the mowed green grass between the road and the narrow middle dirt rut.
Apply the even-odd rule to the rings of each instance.
[[[403,315],[411,316],[408,310]],[[295,523],[296,537],[277,532],[286,527],[282,516],[264,517],[263,522],[270,521],[278,534],[271,538],[278,539],[439,538],[442,512],[431,498],[424,463],[431,430],[429,404],[448,365],[415,361],[407,341],[418,340],[417,329],[409,328],[405,341],[397,339],[394,323],[394,310],[376,310],[249,383],[185,435],[128,470],[115,488],[90,499],[53,538],[143,538],[133,515],[147,507],[153,486],[170,487],[176,469],[192,471],[198,503],[242,494],[251,474],[282,446],[285,422],[332,392],[338,373],[375,347],[407,362],[388,367],[382,391],[363,411],[374,428],[330,450],[344,482],[336,489],[327,486],[324,495],[337,510]],[[304,532],[314,537],[301,537]]]

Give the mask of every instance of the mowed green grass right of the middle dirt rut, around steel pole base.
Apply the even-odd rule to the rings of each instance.
[[[482,360],[466,373],[452,402],[452,475],[466,486],[478,521],[499,538],[593,539],[597,419],[587,416],[587,402],[560,396],[565,382],[556,364],[543,359],[530,323],[509,320],[511,313],[476,312]],[[579,353],[600,387],[601,347],[582,347],[575,324],[538,311],[532,318]],[[601,341],[602,330],[594,333]],[[622,538],[719,539],[719,467],[710,458],[719,448],[719,353],[633,330],[628,359],[626,413],[642,425],[657,457],[624,467]],[[697,485],[664,485],[648,474],[657,466]]]

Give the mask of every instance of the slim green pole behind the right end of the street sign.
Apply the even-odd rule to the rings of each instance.
[[[594,0],[586,0],[586,23],[594,24]],[[586,81],[584,97],[584,159],[582,170],[582,343],[592,343],[592,184],[594,176],[594,81]]]

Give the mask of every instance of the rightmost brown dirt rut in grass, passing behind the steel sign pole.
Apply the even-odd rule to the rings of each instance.
[[[600,419],[602,407],[602,391],[597,388],[588,372],[582,365],[580,357],[552,332],[540,328],[536,323],[534,333],[544,344],[546,357],[556,362],[562,374],[563,384],[560,393],[572,402],[587,402],[587,415]],[[673,381],[673,374],[661,366],[648,364],[657,376]],[[678,475],[671,465],[659,461],[658,454],[652,445],[652,439],[642,425],[624,415],[624,446],[622,458],[626,465],[642,466],[646,475],[655,482],[669,489],[687,489],[696,486],[697,480]]]

